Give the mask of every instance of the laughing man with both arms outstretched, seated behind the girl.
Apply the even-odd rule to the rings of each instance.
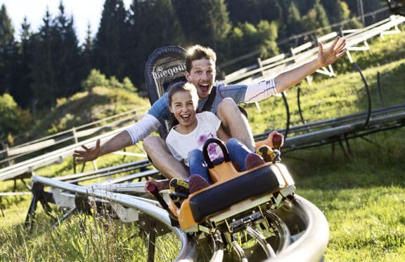
[[[345,39],[340,39],[340,37],[333,41],[328,50],[323,50],[322,43],[319,43],[319,52],[314,60],[290,71],[285,71],[273,79],[251,85],[218,85],[214,102],[207,110],[217,114],[231,137],[236,137],[254,151],[255,142],[252,138],[252,130],[237,104],[240,102],[257,102],[293,87],[317,69],[327,67],[345,55],[345,45]],[[197,88],[200,98],[198,109],[203,108],[214,88],[216,60],[214,51],[203,46],[193,46],[186,55],[185,76],[187,81],[193,83]],[[160,137],[148,137],[151,132],[158,129],[163,120],[169,119],[169,116],[167,95],[165,94],[153,104],[146,116],[143,116],[139,122],[120,132],[102,146],[99,140],[96,142],[96,146],[91,148],[83,145],[84,151],[74,151],[73,156],[77,157],[77,162],[86,162],[94,160],[98,156],[119,151],[144,139],[143,146],[150,160],[167,179],[174,177],[187,179],[190,175],[188,170],[171,156],[165,140]],[[271,143],[271,136],[269,136],[269,142]],[[163,188],[160,187],[159,189]]]

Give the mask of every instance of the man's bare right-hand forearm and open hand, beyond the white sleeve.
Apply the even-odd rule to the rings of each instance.
[[[309,74],[314,73],[317,69],[333,64],[346,53],[346,40],[341,39],[339,36],[333,41],[332,45],[327,50],[323,50],[323,45],[320,42],[318,43],[318,46],[319,51],[316,59],[302,64],[300,67],[291,69],[290,71],[285,71],[274,78],[278,93],[292,87],[305,77],[309,76]]]

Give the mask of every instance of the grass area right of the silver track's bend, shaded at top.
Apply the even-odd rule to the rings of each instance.
[[[325,214],[330,227],[326,261],[401,261],[405,254],[405,141],[403,130],[371,135],[378,148],[352,141],[354,156],[328,149],[288,154],[297,194]],[[329,149],[330,150],[330,149]],[[323,151],[323,152],[322,152]],[[294,158],[298,156],[298,158]],[[290,158],[288,158],[290,156]],[[304,162],[304,163],[303,163]]]

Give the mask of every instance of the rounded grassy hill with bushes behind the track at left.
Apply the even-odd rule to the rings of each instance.
[[[149,106],[149,100],[135,92],[96,86],[91,92],[58,99],[54,108],[37,112],[32,129],[20,137],[24,140],[44,137],[133,109],[146,111]]]

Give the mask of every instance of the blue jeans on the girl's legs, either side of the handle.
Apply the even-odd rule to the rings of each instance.
[[[245,144],[236,138],[231,138],[228,140],[228,142],[226,142],[226,149],[229,151],[229,159],[236,162],[240,166],[241,170],[245,170],[245,158],[248,156],[248,153],[252,153],[252,151],[250,151]],[[194,149],[191,151],[189,164],[190,174],[199,174],[205,179],[205,181],[211,184],[203,151],[199,149]]]

